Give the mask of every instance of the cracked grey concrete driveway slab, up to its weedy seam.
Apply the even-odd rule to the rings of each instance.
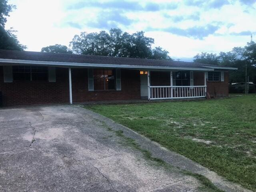
[[[0,191],[215,191],[119,126],[79,106],[0,110]]]

